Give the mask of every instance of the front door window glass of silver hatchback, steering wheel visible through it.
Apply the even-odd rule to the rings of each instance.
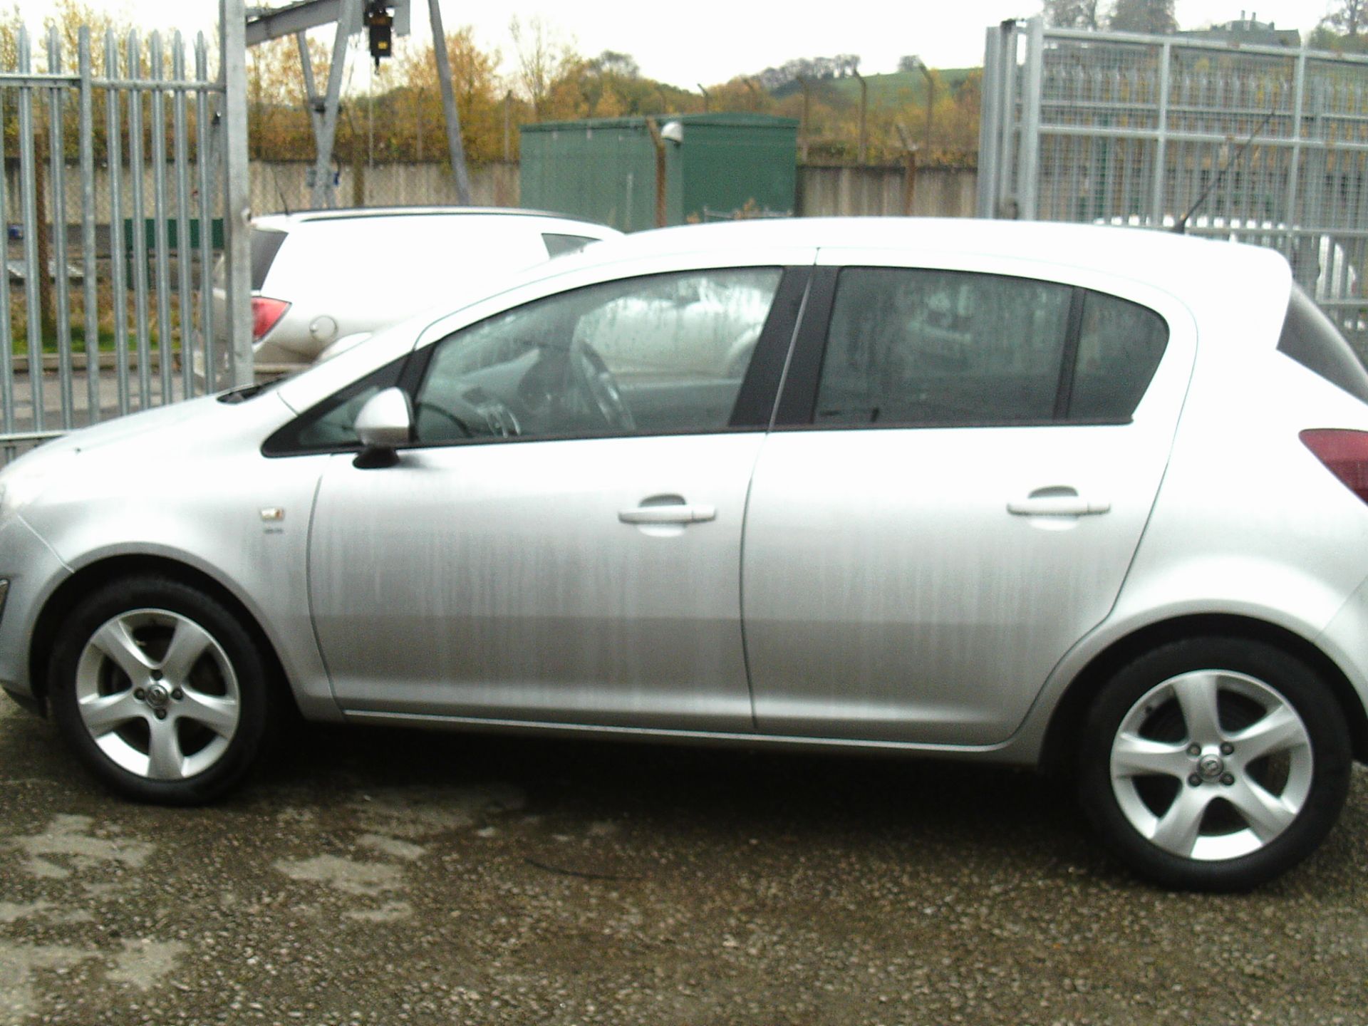
[[[415,404],[420,443],[721,431],[780,268],[595,285],[436,343]]]

